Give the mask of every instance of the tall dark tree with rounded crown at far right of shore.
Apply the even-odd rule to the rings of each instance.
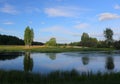
[[[106,30],[104,30],[104,37],[105,37],[105,41],[106,44],[108,45],[108,47],[110,47],[113,43],[113,31],[110,28],[106,28]]]

